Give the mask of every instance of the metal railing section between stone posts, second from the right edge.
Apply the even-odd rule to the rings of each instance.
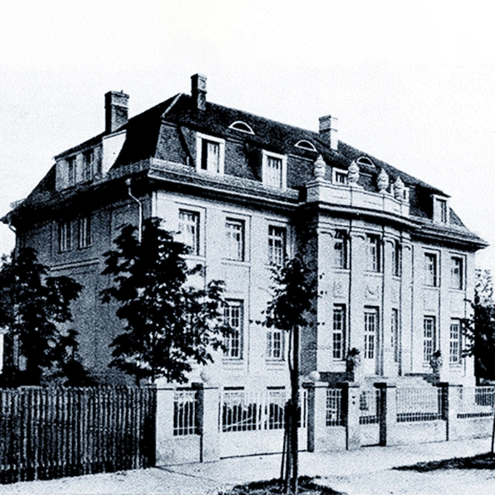
[[[441,388],[398,388],[397,422],[442,419]]]

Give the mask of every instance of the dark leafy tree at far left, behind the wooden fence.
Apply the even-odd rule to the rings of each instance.
[[[0,268],[0,326],[7,330],[3,385],[42,385],[64,379],[69,363],[66,349],[76,348],[76,332],[61,324],[72,321],[71,302],[82,287],[68,276],[48,276],[37,252],[22,248],[2,257]],[[14,352],[25,360],[20,370]],[[79,365],[82,368],[81,363]]]

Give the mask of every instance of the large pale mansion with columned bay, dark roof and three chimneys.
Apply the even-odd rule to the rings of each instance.
[[[192,245],[191,261],[205,267],[194,284],[226,281],[237,350],[218,352],[191,383],[287,387],[286,337],[256,322],[269,299],[272,264],[308,235],[319,295],[301,338],[306,378],[431,377],[431,354],[439,350],[443,366],[431,379],[474,384],[458,325],[467,314],[474,252],[485,243],[443,192],[338,141],[332,117],[320,120],[318,133],[209,103],[204,76],[192,78],[194,98],[177,95],[130,120],[127,95],[109,94],[105,132],[59,154],[4,219],[16,228],[18,246],[36,248],[52,274],[83,284],[74,327],[95,372],[119,379],[107,369],[120,323],[115,307],[100,303],[110,283],[100,275],[103,253],[141,215],[163,218]],[[350,349],[360,356],[353,376]]]

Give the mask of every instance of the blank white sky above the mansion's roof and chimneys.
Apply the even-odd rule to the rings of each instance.
[[[208,78],[214,103],[318,131],[438,187],[492,246],[495,30],[489,2],[2,0],[0,216],[53,156]],[[13,233],[0,226],[0,252]]]

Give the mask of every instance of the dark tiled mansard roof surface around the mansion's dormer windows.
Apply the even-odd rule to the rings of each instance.
[[[244,124],[245,129],[251,129],[252,133],[240,132],[239,129],[235,129],[232,124],[239,122]],[[432,187],[426,182],[418,180],[416,177],[342,141],[338,142],[336,149],[332,149],[330,143],[325,141],[318,132],[276,122],[208,101],[205,103],[204,110],[199,110],[197,105],[194,105],[192,96],[184,93],[179,93],[130,118],[114,132],[124,131],[124,144],[107,179],[125,175],[129,165],[148,161],[149,167],[151,166],[149,165],[150,158],[189,165],[190,171],[194,175],[195,154],[193,156],[190,150],[194,149],[195,133],[200,132],[238,144],[242,147],[245,156],[250,156],[252,153],[256,155],[262,150],[289,156],[287,185],[291,190],[303,190],[303,187],[314,178],[313,163],[321,155],[328,165],[325,176],[327,180],[332,180],[332,168],[347,170],[353,161],[359,161],[361,172],[359,184],[364,190],[376,191],[376,179],[382,169],[389,175],[391,181],[400,177],[404,184],[409,187],[410,214],[419,220],[424,219],[428,222],[428,219],[431,219],[432,194],[448,197],[436,187]],[[83,151],[90,146],[96,146],[106,136],[110,136],[110,134],[107,132],[98,134],[63,153],[59,153],[55,158],[71,156],[71,154]],[[309,146],[296,146],[300,141],[309,141],[315,150],[310,149]],[[175,146],[179,150],[175,159],[170,156],[171,146]],[[363,157],[367,160],[359,160]],[[371,163],[367,165],[367,161]],[[245,187],[255,187],[256,184],[252,181],[259,180],[256,171],[252,170],[252,166],[250,168],[249,163],[241,162],[234,160],[229,161],[228,165],[226,163],[226,175],[232,177],[237,185],[240,183],[239,180],[250,179],[251,182],[248,181]],[[188,182],[194,179],[194,177],[186,177],[190,173],[184,175]],[[107,179],[103,177],[103,180]],[[91,189],[91,187],[93,187],[91,184],[79,184],[74,186],[71,192],[57,192],[55,190],[55,167],[52,167],[21,206],[25,208],[47,202],[47,200],[54,204],[62,197],[73,196],[88,188]],[[451,209],[450,226],[466,230],[462,221]],[[479,241],[484,243],[481,239]]]

